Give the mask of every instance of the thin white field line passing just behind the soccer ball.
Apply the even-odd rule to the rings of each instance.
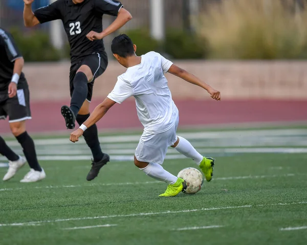
[[[248,175],[248,176],[233,176],[233,177],[217,177],[213,181],[228,181],[228,180],[244,180],[244,179],[265,179],[272,177],[290,177],[295,176],[294,173],[281,174],[281,175]],[[126,182],[126,183],[101,183],[101,184],[85,184],[85,185],[70,185],[70,186],[35,186],[30,188],[19,187],[19,188],[3,188],[0,191],[14,191],[14,190],[30,190],[30,189],[54,189],[54,188],[76,188],[76,187],[87,187],[87,186],[124,186],[124,185],[148,185],[164,183],[161,181],[147,181],[147,182]]]

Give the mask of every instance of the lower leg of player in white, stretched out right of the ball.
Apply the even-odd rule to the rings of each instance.
[[[211,181],[215,159],[203,157],[185,138],[177,136],[177,141],[171,147],[195,161],[205,174],[206,180]]]

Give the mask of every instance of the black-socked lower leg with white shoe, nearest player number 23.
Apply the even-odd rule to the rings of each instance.
[[[45,179],[45,171],[43,171],[37,161],[34,141],[26,131],[26,121],[12,122],[10,123],[10,128],[21,147],[23,147],[25,157],[31,168],[30,172],[20,182],[36,182]]]

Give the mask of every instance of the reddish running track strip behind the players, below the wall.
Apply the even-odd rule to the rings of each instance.
[[[31,104],[32,120],[27,123],[29,132],[64,130],[60,107],[69,101],[34,102]],[[92,108],[100,101],[93,101]],[[248,122],[291,122],[307,121],[307,101],[176,101],[180,111],[180,126],[248,123]],[[115,105],[98,122],[98,128],[142,128],[138,120],[135,102],[128,100]],[[8,121],[0,121],[0,133],[8,133]]]

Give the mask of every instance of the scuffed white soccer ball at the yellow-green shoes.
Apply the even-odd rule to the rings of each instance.
[[[188,187],[183,191],[186,194],[194,194],[201,190],[204,184],[203,174],[196,168],[184,168],[177,177],[181,177],[187,182]]]

